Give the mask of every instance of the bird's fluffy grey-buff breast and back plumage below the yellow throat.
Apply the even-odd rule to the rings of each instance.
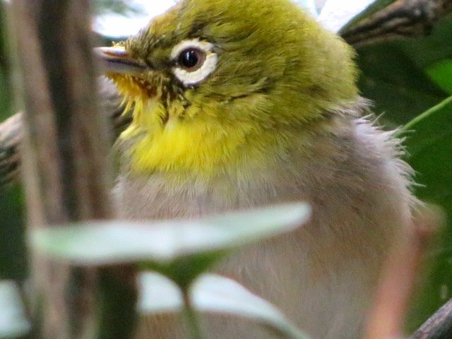
[[[217,270],[278,305],[312,338],[360,338],[381,263],[417,203],[398,139],[368,119],[350,119],[360,110],[343,112],[310,140],[300,138],[302,147],[250,165],[247,174],[231,169],[208,181],[177,182],[170,173],[140,177],[126,170],[117,184],[122,217],[198,218],[308,201],[307,225],[244,249]],[[182,328],[167,323],[174,319],[148,321],[148,334],[162,335],[149,338],[185,338]],[[206,326],[208,338],[272,338],[237,319],[213,316]]]

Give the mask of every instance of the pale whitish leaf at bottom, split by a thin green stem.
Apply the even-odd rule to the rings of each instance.
[[[182,292],[171,280],[157,273],[140,277],[142,314],[182,311]],[[191,287],[191,302],[201,313],[230,314],[254,321],[290,339],[307,339],[272,304],[249,292],[234,280],[219,275],[202,275]],[[220,334],[220,333],[218,333]]]

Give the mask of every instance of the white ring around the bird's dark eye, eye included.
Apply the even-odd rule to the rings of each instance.
[[[184,40],[174,46],[171,59],[176,63],[172,71],[186,86],[201,83],[215,71],[218,57],[213,44],[206,41]]]

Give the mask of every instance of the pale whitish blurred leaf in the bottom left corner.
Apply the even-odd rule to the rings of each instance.
[[[0,281],[0,338],[21,338],[30,329],[16,283]]]

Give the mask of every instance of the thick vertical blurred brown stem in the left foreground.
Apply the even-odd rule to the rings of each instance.
[[[89,1],[14,0],[10,18],[25,113],[22,119],[13,117],[7,122],[17,133],[3,136],[10,144],[6,150],[23,138],[20,148],[30,232],[64,222],[112,218],[107,163],[111,140],[93,95]],[[19,129],[20,120],[23,129]],[[14,163],[13,157],[1,162],[7,169],[17,168]],[[127,338],[136,302],[132,266],[73,268],[37,254],[32,261],[37,311],[42,312],[37,315],[42,319],[37,328],[40,337],[94,338],[98,334]],[[109,303],[118,300],[109,298],[118,291],[127,295],[121,307],[98,314],[105,299]],[[127,328],[108,323],[121,317]],[[98,333],[106,327],[106,319],[107,327],[114,329],[108,335]]]

